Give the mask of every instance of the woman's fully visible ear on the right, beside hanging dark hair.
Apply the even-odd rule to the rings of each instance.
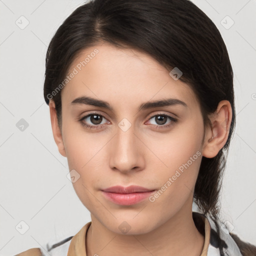
[[[212,127],[207,127],[202,146],[202,155],[207,158],[216,156],[224,146],[232,119],[232,108],[228,100],[221,100],[216,111],[209,116]]]

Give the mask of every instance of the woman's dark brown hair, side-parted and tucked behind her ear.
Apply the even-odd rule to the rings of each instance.
[[[204,127],[219,101],[228,100],[232,119],[227,141],[217,155],[202,157],[194,200],[200,211],[216,219],[219,191],[226,164],[224,150],[235,126],[233,71],[219,30],[189,0],[91,0],[76,8],[60,25],[46,54],[44,99],[52,99],[61,128],[61,91],[72,60],[89,46],[109,42],[150,54],[168,71],[178,67],[181,81],[194,91]]]

